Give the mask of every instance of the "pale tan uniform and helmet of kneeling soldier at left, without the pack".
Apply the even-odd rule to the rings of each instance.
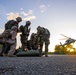
[[[10,51],[8,52],[8,56],[12,56],[16,50],[16,36],[17,36],[17,27],[13,26],[11,28],[11,39],[7,40],[7,43],[11,45]]]

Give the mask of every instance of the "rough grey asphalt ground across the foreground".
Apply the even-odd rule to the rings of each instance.
[[[76,56],[0,57],[0,75],[76,75]]]

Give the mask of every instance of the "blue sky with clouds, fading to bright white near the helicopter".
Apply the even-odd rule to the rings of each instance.
[[[5,23],[17,16],[21,16],[24,25],[31,21],[31,33],[36,32],[38,26],[50,30],[49,51],[64,38],[60,34],[76,39],[76,0],[0,0],[0,33]],[[18,37],[18,45],[20,38]]]

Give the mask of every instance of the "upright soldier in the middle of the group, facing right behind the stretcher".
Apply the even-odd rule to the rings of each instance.
[[[20,35],[21,37],[21,44],[22,44],[22,50],[27,49],[27,40],[28,40],[28,36],[30,33],[30,21],[26,21],[25,26],[21,25],[20,26],[20,31],[22,32],[22,34]]]

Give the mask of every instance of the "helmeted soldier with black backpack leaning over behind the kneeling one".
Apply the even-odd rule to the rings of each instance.
[[[16,21],[15,20],[9,20],[6,24],[5,24],[5,30],[7,29],[11,29],[12,26],[17,26],[18,28],[18,24],[22,21],[21,17],[17,17]]]

